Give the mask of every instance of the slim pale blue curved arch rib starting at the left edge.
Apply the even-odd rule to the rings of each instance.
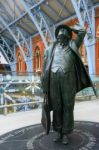
[[[7,28],[7,30],[10,32],[10,34],[12,35],[12,37],[14,38],[14,40],[16,41],[17,45],[19,46],[20,50],[21,50],[21,54],[24,58],[24,60],[26,61],[26,56],[24,54],[24,51],[18,41],[18,39],[15,37],[14,33],[12,32],[12,30],[9,28],[9,26],[7,26],[6,22],[3,20],[3,18],[0,16],[0,21],[4,24],[4,26]]]

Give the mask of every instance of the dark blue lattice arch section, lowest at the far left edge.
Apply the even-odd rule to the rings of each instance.
[[[5,41],[5,39],[3,37],[0,37],[0,40],[2,42],[2,44],[0,43],[0,46],[3,48],[4,51],[6,51],[6,55],[9,59],[9,62],[14,61],[14,54],[13,54],[10,46],[8,45],[8,43]]]

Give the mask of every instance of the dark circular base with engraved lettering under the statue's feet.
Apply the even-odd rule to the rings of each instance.
[[[54,143],[56,133],[46,135],[42,125],[33,125],[0,136],[0,150],[99,150],[99,123],[75,122],[69,144]]]

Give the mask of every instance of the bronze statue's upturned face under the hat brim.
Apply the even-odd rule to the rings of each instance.
[[[58,36],[57,36],[57,40],[61,43],[66,42],[68,44],[69,39],[70,39],[69,38],[69,32],[66,29],[60,29]]]

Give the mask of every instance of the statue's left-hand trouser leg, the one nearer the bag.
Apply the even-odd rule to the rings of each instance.
[[[61,93],[60,85],[58,82],[58,74],[51,73],[50,80],[50,98],[53,108],[53,129],[61,132],[62,130],[62,104],[61,104]]]

